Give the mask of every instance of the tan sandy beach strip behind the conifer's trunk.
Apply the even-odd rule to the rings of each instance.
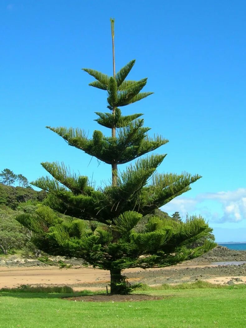
[[[150,285],[163,283],[191,282],[205,280],[211,283],[227,283],[238,278],[235,283],[246,282],[246,265],[176,265],[163,269],[127,269],[124,274],[130,283],[142,282]],[[74,290],[101,289],[109,284],[108,271],[93,268],[59,269],[49,268],[0,268],[0,288],[20,285],[68,285]]]

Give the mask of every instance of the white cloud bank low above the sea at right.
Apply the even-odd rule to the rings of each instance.
[[[176,197],[162,210],[169,214],[178,211],[182,218],[200,214],[214,223],[241,222],[246,220],[246,188],[199,194],[194,198]]]

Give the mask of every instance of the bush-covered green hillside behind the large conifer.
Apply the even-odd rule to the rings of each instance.
[[[31,231],[19,224],[15,217],[25,213],[35,213],[38,207],[42,205],[46,194],[44,190],[33,190],[30,185],[28,188],[23,188],[0,183],[0,256],[1,254],[15,254],[17,251],[23,256],[40,255],[41,252],[31,242]],[[60,216],[66,217],[64,215]],[[152,214],[147,214],[141,218],[135,226],[135,231],[142,231],[150,218],[153,217],[181,222],[176,216],[179,216],[178,212],[169,216],[168,213],[156,209]],[[93,228],[93,225],[95,228],[103,227],[102,224],[92,221],[86,221],[86,223],[87,229]],[[209,234],[208,237],[215,240],[212,234]],[[203,242],[204,238],[198,240],[196,245],[201,245]],[[192,248],[193,245],[189,245],[189,247]],[[47,255],[44,252],[42,254]]]

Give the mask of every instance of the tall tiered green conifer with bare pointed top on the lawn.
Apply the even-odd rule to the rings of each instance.
[[[39,207],[35,215],[19,215],[17,220],[33,231],[32,240],[38,249],[50,255],[76,257],[84,264],[109,270],[111,294],[127,294],[131,287],[122,270],[173,265],[200,256],[215,247],[215,243],[206,240],[201,247],[192,250],[185,247],[212,231],[202,217],[192,216],[180,223],[153,216],[142,231],[134,230],[143,215],[153,213],[190,190],[190,184],[200,176],[157,173],[166,154],[139,158],[168,140],[159,135],[148,136],[150,128],[143,127],[144,120],[139,118],[142,114],[122,115],[119,107],[139,101],[152,92],[140,92],[147,78],[126,80],[135,60],[115,73],[113,20],[111,28],[113,76],[83,69],[96,79],[90,86],[108,93],[110,113],[96,112],[96,121],[109,128],[111,136],[96,130],[92,138],[88,138],[79,128],[47,128],[70,146],[111,165],[112,185],[94,188],[87,176],[72,174],[63,163],[43,162],[41,165],[53,179],[41,177],[32,184],[48,192],[44,200],[46,206]],[[125,171],[118,171],[118,165],[135,159]],[[57,212],[66,213],[68,217],[61,218]],[[93,224],[91,229],[88,221],[98,225]]]

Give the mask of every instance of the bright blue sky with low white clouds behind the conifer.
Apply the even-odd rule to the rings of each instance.
[[[82,67],[112,74],[131,59],[129,78],[148,77],[144,113],[150,133],[170,142],[159,172],[199,173],[192,191],[164,206],[201,214],[216,241],[246,241],[245,1],[5,1],[0,3],[0,170],[30,181],[42,161],[63,161],[97,184],[110,167],[45,129],[101,129],[106,93],[89,87]],[[107,129],[101,129],[108,133]]]

